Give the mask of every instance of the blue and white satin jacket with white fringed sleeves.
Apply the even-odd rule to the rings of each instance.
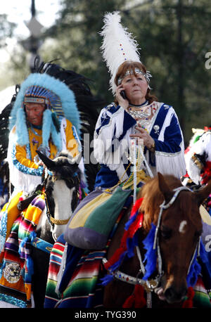
[[[180,177],[186,174],[184,139],[172,106],[156,104],[149,134],[155,141],[155,153],[146,147],[144,155],[153,175],[157,172]],[[95,187],[109,188],[129,178],[129,134],[135,132],[136,120],[120,105],[111,103],[101,110],[94,132],[94,157],[101,164]],[[124,176],[122,177],[122,175]]]

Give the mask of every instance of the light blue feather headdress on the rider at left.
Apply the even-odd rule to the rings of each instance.
[[[60,122],[62,117],[70,120],[80,136],[80,119],[75,101],[75,94],[69,87],[55,77],[47,74],[33,73],[25,79],[11,110],[9,128],[16,126],[17,143],[25,146],[29,143],[27,122],[23,103],[25,96],[45,98],[46,110],[42,124],[42,146],[46,148],[51,136],[53,143],[60,150],[62,143],[60,132],[56,129],[52,115]]]

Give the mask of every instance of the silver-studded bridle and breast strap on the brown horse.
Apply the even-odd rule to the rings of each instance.
[[[158,240],[158,231],[160,228],[160,221],[161,221],[161,217],[162,217],[162,211],[168,209],[173,203],[174,201],[177,199],[177,196],[179,195],[179,193],[181,191],[191,191],[191,189],[187,188],[186,186],[180,186],[179,188],[175,188],[174,190],[174,195],[172,197],[172,199],[170,200],[170,202],[168,202],[165,205],[165,200],[164,202],[162,202],[162,204],[160,205],[160,212],[158,215],[158,223],[157,226],[155,228],[155,238],[154,238],[154,242],[153,242],[153,250],[156,249],[157,247],[157,253],[158,253],[158,275],[155,276],[155,278],[153,279],[148,279],[148,280],[143,280],[142,278],[138,278],[138,277],[134,277],[134,276],[129,276],[127,273],[122,273],[119,270],[115,270],[113,272],[110,272],[114,278],[123,281],[125,283],[129,283],[129,284],[133,284],[133,285],[142,285],[143,288],[146,290],[146,294],[147,294],[147,300],[146,300],[146,305],[148,308],[152,307],[152,295],[151,293],[153,291],[155,291],[156,288],[158,288],[158,285],[160,283],[160,279],[163,275],[163,271],[162,271],[162,257],[160,254],[160,245],[159,245],[159,240]],[[190,271],[191,268],[191,264],[193,262],[193,259],[197,254],[199,255],[199,250],[200,250],[200,240],[198,241],[197,245],[196,245],[196,250],[193,252],[193,256],[191,259],[191,262],[189,264],[188,267],[188,272]],[[139,273],[137,274],[137,276],[139,276],[140,273],[143,273],[143,275],[146,272],[146,269],[143,265],[143,261],[141,259],[141,252],[139,250],[139,246],[136,246],[136,253],[137,256],[139,258],[139,263],[140,263],[140,270]],[[108,260],[104,257],[103,258],[103,264],[106,264],[108,262]]]

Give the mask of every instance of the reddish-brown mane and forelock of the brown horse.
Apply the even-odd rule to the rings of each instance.
[[[181,181],[175,176],[166,174],[164,178],[171,190],[181,186]],[[143,185],[137,198],[143,198],[139,210],[144,213],[143,228],[149,231],[151,223],[156,224],[160,205],[164,201],[164,196],[159,188],[158,176],[155,176]]]

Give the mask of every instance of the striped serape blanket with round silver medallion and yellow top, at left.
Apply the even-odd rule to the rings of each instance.
[[[44,195],[38,195],[14,221],[0,257],[0,300],[16,307],[31,306],[33,261],[31,241],[44,210]]]

